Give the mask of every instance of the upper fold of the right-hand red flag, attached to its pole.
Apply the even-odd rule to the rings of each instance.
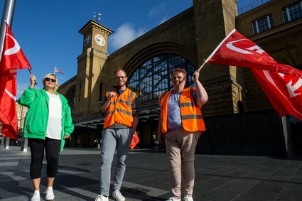
[[[276,63],[258,45],[245,38],[235,29],[217,46],[205,63],[252,67],[262,70],[281,72],[302,78],[302,71],[294,67]]]

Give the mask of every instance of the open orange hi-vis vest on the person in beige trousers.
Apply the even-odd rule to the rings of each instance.
[[[195,105],[192,92],[196,90],[196,87],[188,87],[180,94],[179,106],[180,106],[180,118],[183,129],[189,132],[205,131],[205,122],[203,121],[203,115],[201,114],[200,107]],[[168,100],[172,91],[163,92],[159,96],[159,104],[161,106],[162,122],[161,131],[163,134],[168,132]]]

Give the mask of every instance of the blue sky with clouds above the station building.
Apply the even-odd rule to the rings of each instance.
[[[238,0],[238,8],[253,1]],[[94,12],[102,13],[99,22],[114,31],[110,54],[190,6],[193,0],[16,0],[11,31],[33,68],[37,88],[42,88],[43,76],[55,66],[65,72],[55,74],[60,83],[76,75],[83,42],[78,31],[94,19]],[[28,77],[28,70],[18,70],[17,98],[29,86]]]

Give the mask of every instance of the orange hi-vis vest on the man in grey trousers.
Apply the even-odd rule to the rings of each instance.
[[[108,98],[108,92],[106,93]],[[112,126],[114,123],[123,124],[125,126],[132,126],[133,116],[131,104],[136,97],[136,93],[132,92],[130,89],[126,88],[122,94],[117,97],[117,92],[115,92],[114,97],[110,100],[109,107],[107,109],[107,114],[104,122],[104,129]]]

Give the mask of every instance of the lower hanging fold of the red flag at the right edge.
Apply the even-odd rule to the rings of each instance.
[[[254,76],[274,109],[284,116],[302,120],[302,79],[279,72],[252,69]]]

